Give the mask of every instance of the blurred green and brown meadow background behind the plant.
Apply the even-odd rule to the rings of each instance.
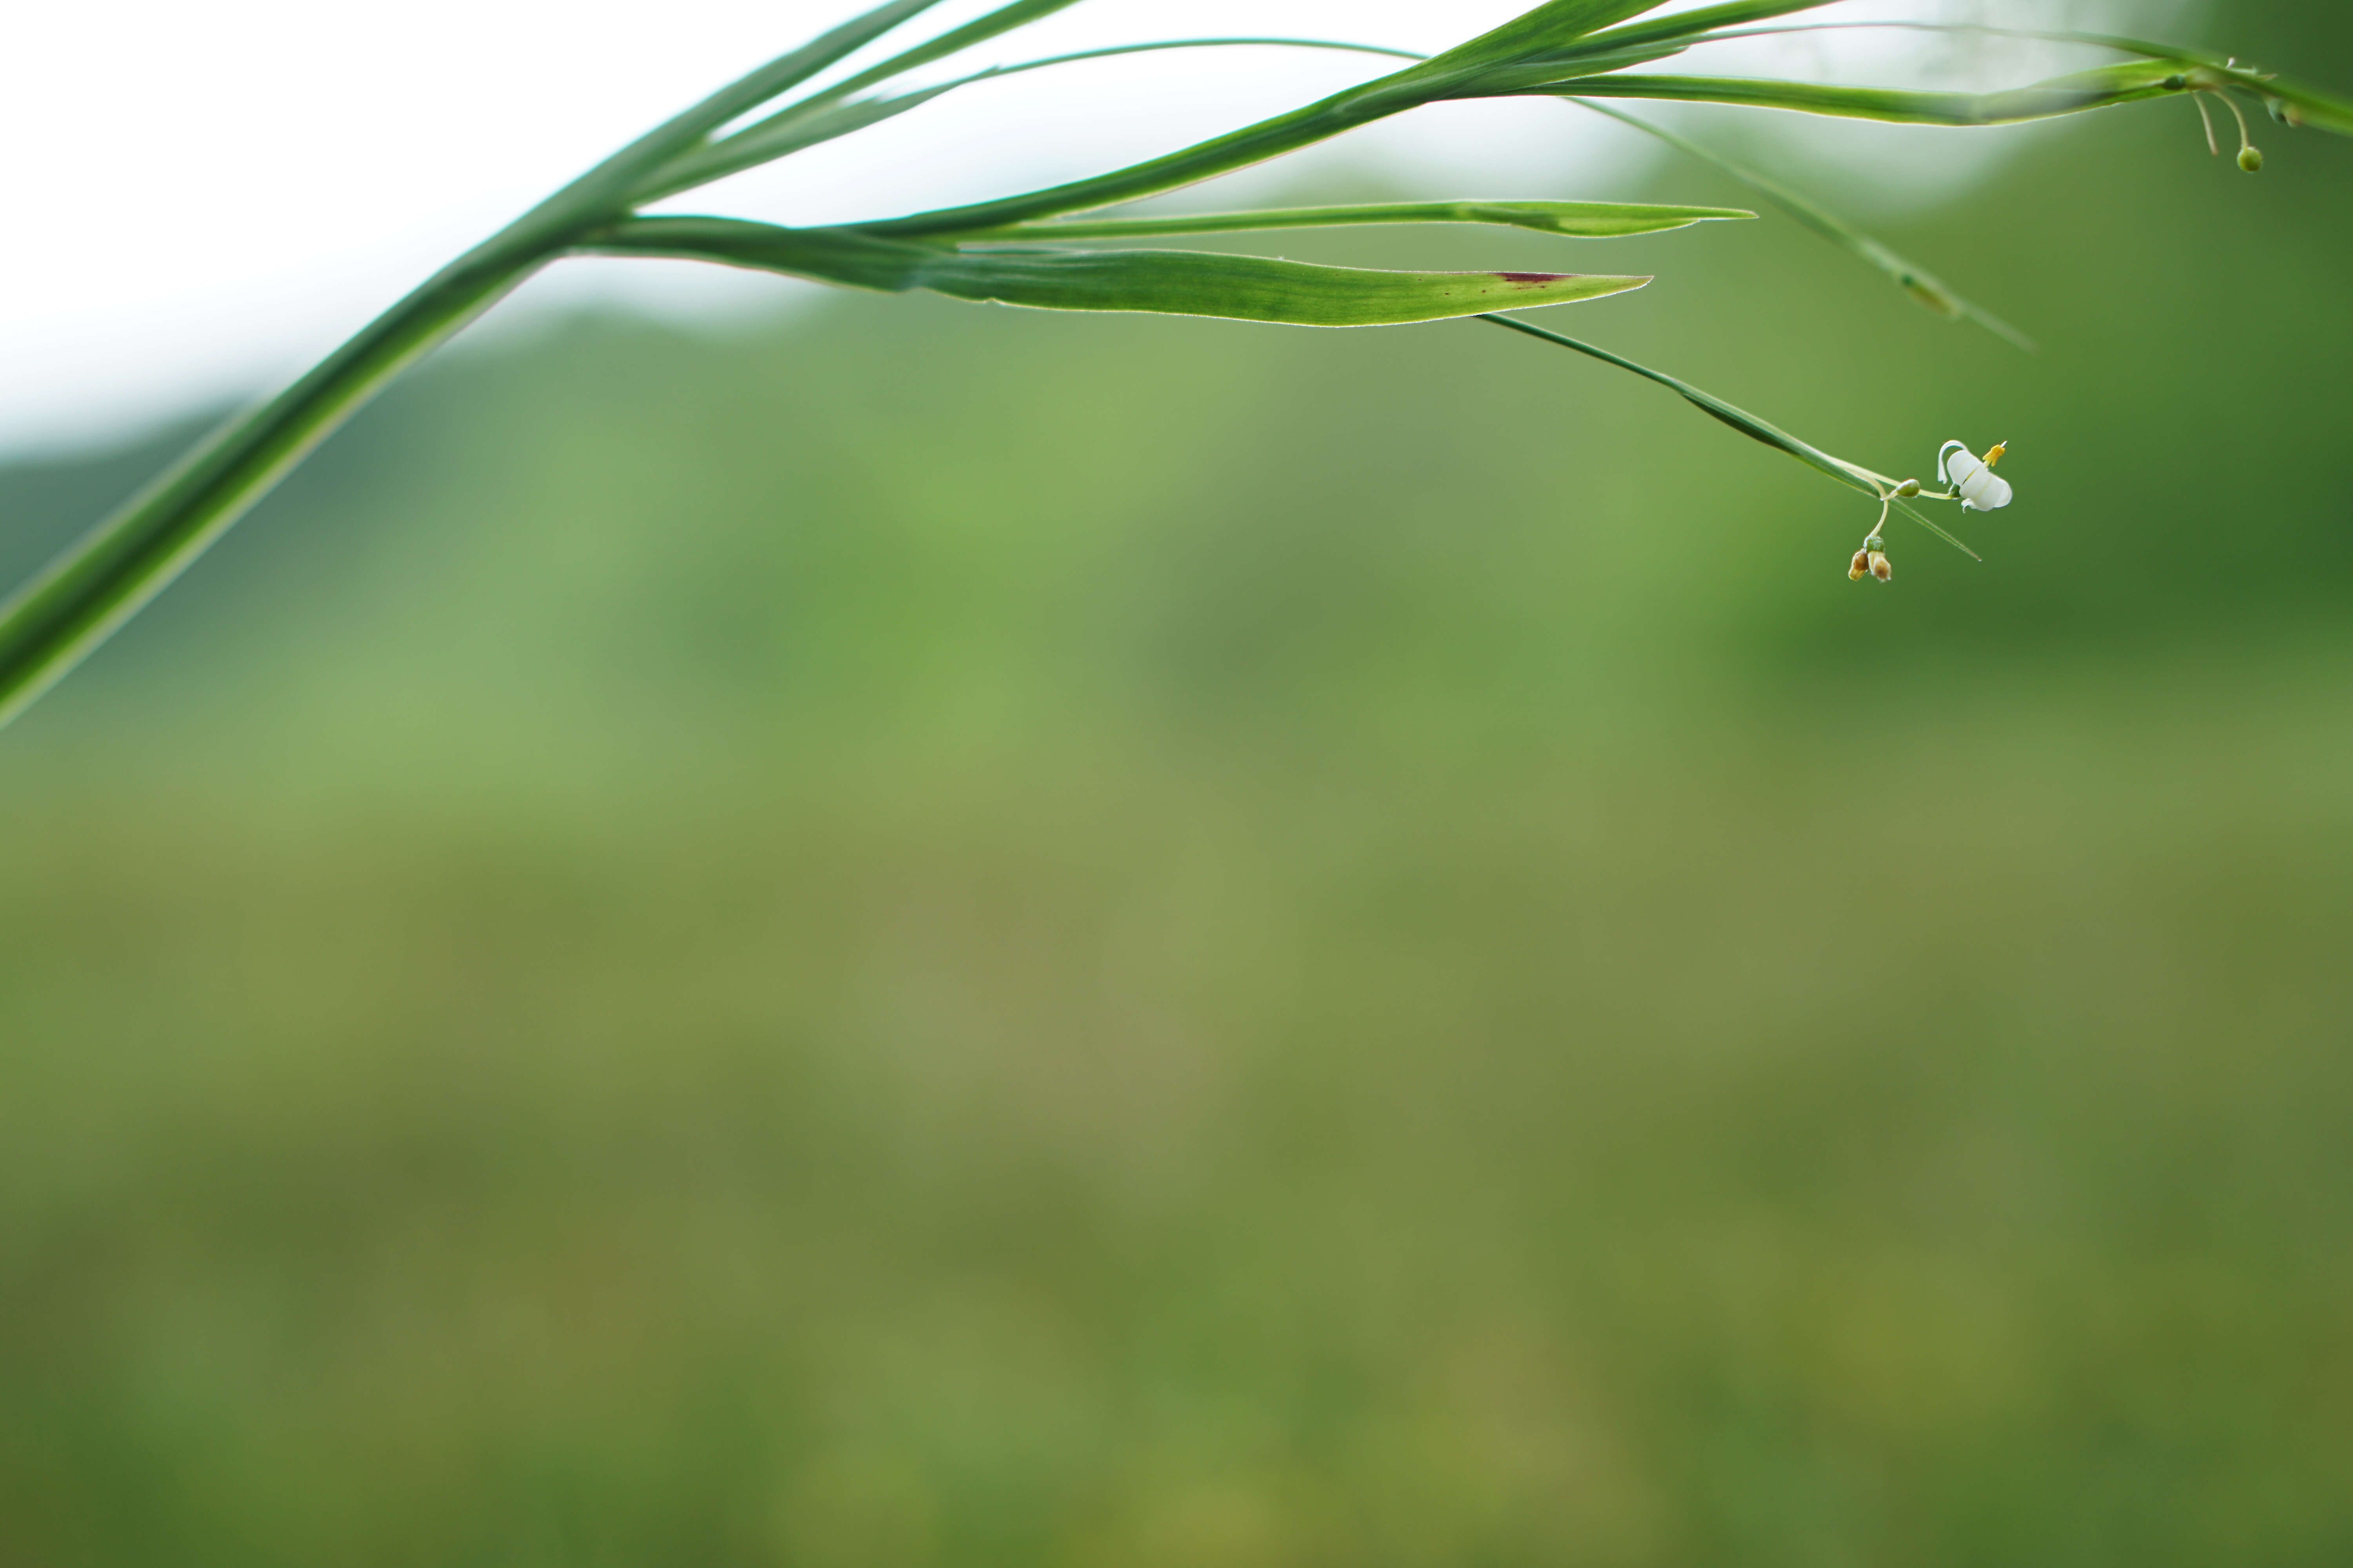
[[[1779,219],[1285,235],[2012,440],[1885,590],[1475,322],[426,367],[0,738],[0,1563],[2353,1561],[2353,150],[2261,141],[1889,230],[2040,357]]]

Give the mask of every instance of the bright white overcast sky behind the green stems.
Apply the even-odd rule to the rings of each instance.
[[[1532,2],[1089,0],[958,68],[1217,33],[1440,49]],[[0,49],[12,207],[0,247],[0,454],[108,440],[264,390],[626,139],[854,9],[856,0],[14,7]],[[889,45],[984,9],[948,0]],[[2174,9],[2177,0],[1849,0],[1826,19],[1998,12],[2052,26],[2068,12],[2078,24],[2151,26],[2151,12],[2177,21],[2162,14]],[[1692,61],[1880,82],[1934,63],[1951,82],[1953,59],[1932,61],[1932,47],[1918,33],[1831,33]],[[1974,56],[1962,73],[2031,80],[2019,71],[2061,63]],[[845,221],[1000,195],[1162,153],[1379,71],[1374,56],[1285,49],[1045,71],[951,94],[687,205]],[[1984,134],[1835,129],[1859,148],[1845,174],[1875,172],[1882,183],[1894,174],[1915,195],[1967,181],[1991,150]],[[1640,136],[1555,103],[1501,101],[1419,110],[1306,158],[1377,162],[1428,195],[1574,197],[1626,190],[1652,155]],[[1238,179],[1264,186],[1308,167],[1287,160]],[[741,310],[795,287],[685,263],[565,263],[501,317],[591,296]]]

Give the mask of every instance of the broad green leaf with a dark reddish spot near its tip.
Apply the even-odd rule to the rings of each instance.
[[[1562,306],[1649,277],[1581,273],[1377,273],[1205,252],[958,252],[842,228],[736,219],[635,219],[591,235],[605,256],[682,256],[859,289],[932,289],[1038,310],[1148,310],[1292,327],[1386,327]]]

